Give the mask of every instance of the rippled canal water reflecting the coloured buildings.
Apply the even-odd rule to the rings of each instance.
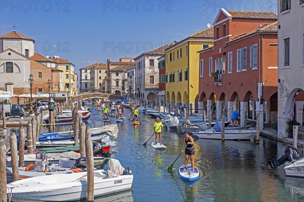
[[[93,110],[87,122],[90,127],[101,127],[102,113]],[[133,126],[125,110],[125,121],[118,124],[117,147],[111,149],[112,157],[129,167],[134,175],[131,191],[94,201],[304,201],[304,179],[286,177],[283,165],[268,167],[268,161],[283,155],[287,144],[261,138],[260,144],[251,141],[195,140],[195,166],[201,177],[196,182],[186,182],[178,177],[178,168],[184,163],[182,149],[184,135],[162,131],[166,150],[151,147],[155,141],[155,120],[140,114],[139,126]],[[114,119],[109,124],[117,124]],[[69,130],[67,126],[65,130]],[[303,156],[302,148],[298,149]],[[107,169],[106,164],[97,168]],[[83,200],[85,201],[85,200]]]

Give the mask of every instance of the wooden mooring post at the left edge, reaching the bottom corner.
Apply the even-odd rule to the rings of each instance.
[[[0,140],[0,201],[8,201],[6,179],[6,145],[3,140]]]

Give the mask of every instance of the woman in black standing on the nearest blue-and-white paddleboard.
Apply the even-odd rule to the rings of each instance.
[[[194,141],[193,141],[193,138],[190,136],[189,131],[185,131],[184,135],[185,135],[185,138],[183,140],[182,148],[185,148],[185,145],[187,145],[185,148],[184,171],[187,170],[189,157],[190,157],[190,161],[191,161],[192,170],[194,171],[194,154],[195,154]],[[183,152],[183,150],[181,150],[181,152]]]

